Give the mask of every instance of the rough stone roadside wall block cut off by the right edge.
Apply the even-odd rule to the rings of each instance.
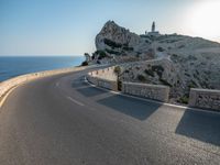
[[[191,88],[189,106],[220,111],[220,90]]]

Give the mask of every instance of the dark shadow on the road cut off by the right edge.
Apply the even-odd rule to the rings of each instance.
[[[220,146],[220,114],[187,109],[175,132]]]

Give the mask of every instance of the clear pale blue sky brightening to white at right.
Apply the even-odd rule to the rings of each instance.
[[[0,0],[0,55],[82,55],[108,20],[220,42],[220,0]]]

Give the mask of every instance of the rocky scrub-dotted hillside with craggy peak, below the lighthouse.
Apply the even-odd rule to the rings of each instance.
[[[109,21],[96,46],[92,63],[123,63],[121,80],[169,86],[174,102],[187,103],[190,88],[220,89],[219,43],[177,34],[138,35]]]

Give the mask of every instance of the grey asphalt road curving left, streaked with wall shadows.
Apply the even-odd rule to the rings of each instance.
[[[119,96],[85,72],[15,88],[0,109],[0,165],[220,164],[220,114]]]

